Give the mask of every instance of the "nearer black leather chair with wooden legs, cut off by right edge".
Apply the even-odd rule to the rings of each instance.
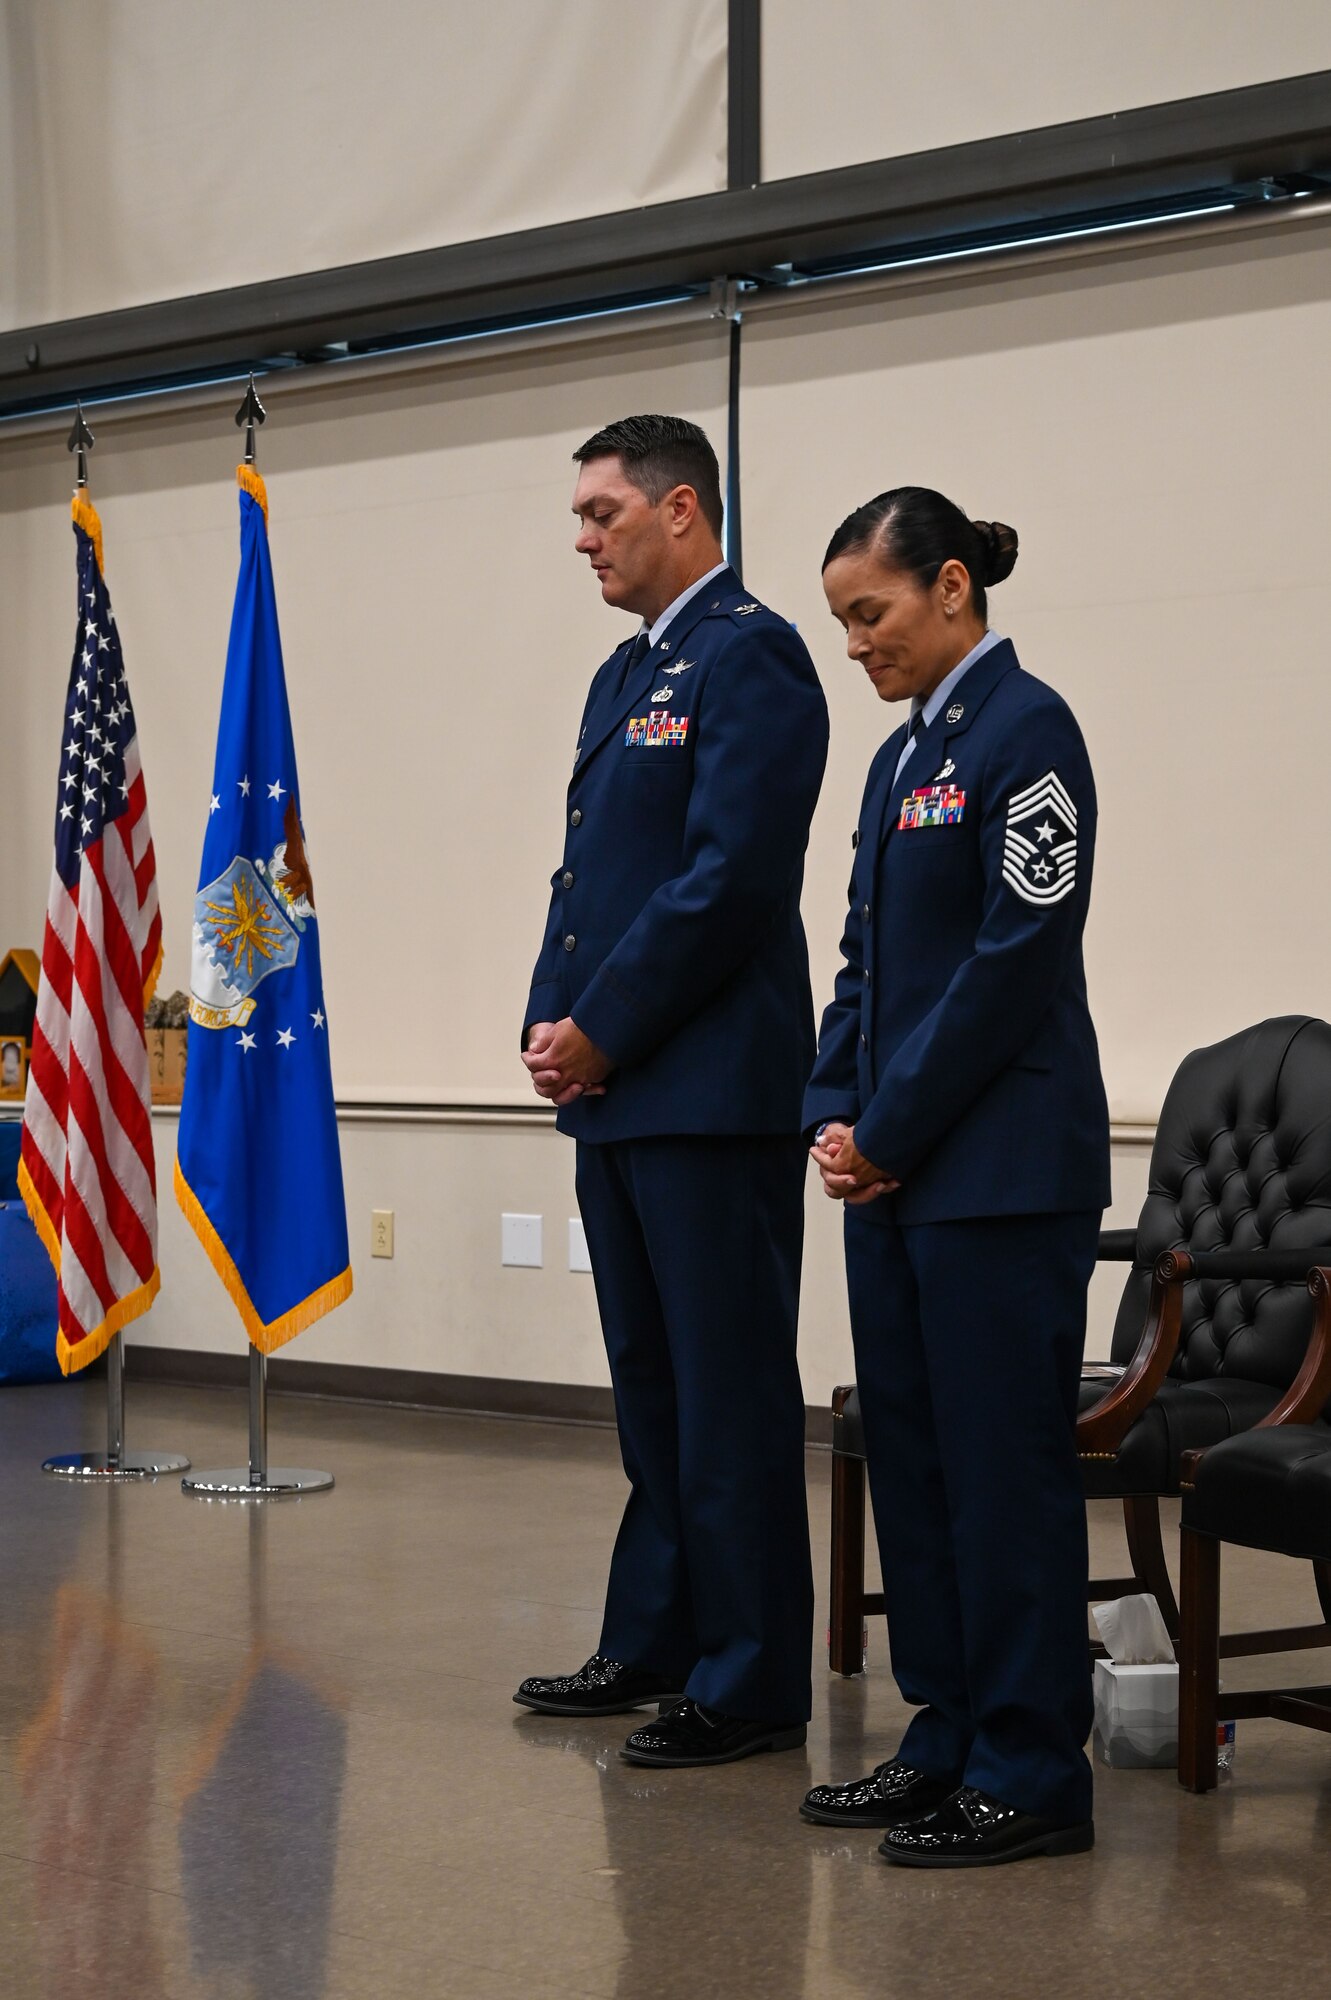
[[[1331,1646],[1331,1426],[1307,1422],[1331,1396],[1331,1270],[1315,1270],[1309,1290],[1319,1314],[1287,1398],[1289,1420],[1197,1452],[1183,1468],[1179,1784],[1189,1792],[1209,1792],[1215,1784],[1217,1722],[1275,1716],[1331,1730],[1329,1686],[1219,1690],[1221,1542],[1311,1560],[1323,1614],[1321,1624],[1293,1632],[1233,1634],[1231,1654]]]

